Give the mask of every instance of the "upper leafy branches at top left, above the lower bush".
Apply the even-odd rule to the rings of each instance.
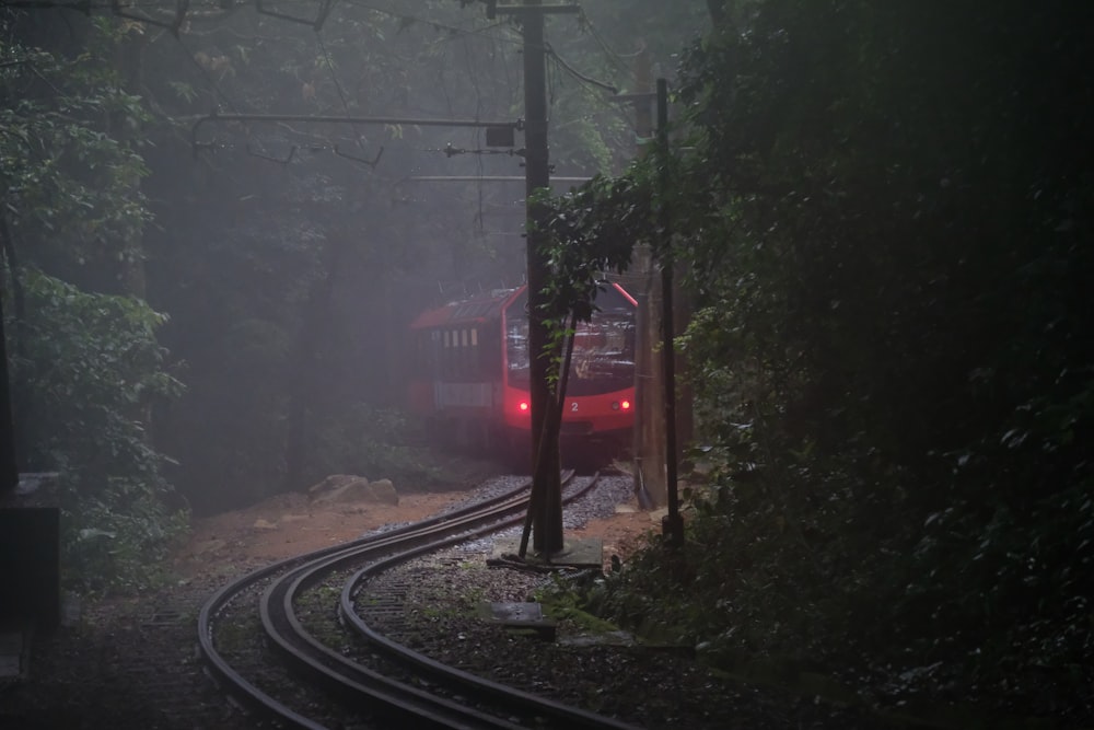
[[[108,46],[103,26],[93,39]],[[36,242],[27,260],[85,279],[138,260],[149,220],[144,162],[110,131],[129,135],[148,117],[100,55],[108,51],[63,59],[0,43],[10,59],[0,70],[0,184],[13,235]]]

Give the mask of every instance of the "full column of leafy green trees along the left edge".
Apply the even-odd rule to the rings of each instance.
[[[146,582],[182,524],[146,432],[178,383],[155,340],[165,317],[109,293],[130,287],[149,213],[143,162],[107,129],[144,114],[105,60],[124,32],[96,21],[89,37],[74,58],[0,45],[0,222],[20,465],[59,473],[67,579],[103,588]]]

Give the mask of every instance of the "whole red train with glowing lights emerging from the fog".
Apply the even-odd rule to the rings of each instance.
[[[630,444],[635,420],[635,299],[617,283],[579,324],[562,412],[563,452]],[[531,453],[525,287],[423,312],[410,325],[410,410],[451,444],[521,460]]]

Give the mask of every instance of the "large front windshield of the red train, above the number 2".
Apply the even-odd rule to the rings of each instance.
[[[516,311],[522,310],[523,308]],[[508,320],[507,350],[510,385],[528,387],[527,316],[517,315]],[[579,323],[573,339],[567,395],[597,395],[621,391],[633,384],[633,309],[621,303],[594,313],[592,322]]]

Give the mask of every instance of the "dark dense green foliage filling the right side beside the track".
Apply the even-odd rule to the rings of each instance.
[[[731,4],[670,171],[707,486],[604,605],[1089,721],[1091,11]]]

